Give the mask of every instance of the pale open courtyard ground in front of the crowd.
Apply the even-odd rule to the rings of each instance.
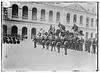
[[[2,44],[2,70],[96,70],[97,54],[68,49],[68,55],[42,49],[41,45],[33,48],[32,40],[21,44]]]

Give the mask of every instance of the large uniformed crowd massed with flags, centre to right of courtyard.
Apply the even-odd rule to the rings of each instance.
[[[82,34],[83,36],[83,34]],[[43,49],[50,49],[51,51],[58,51],[60,53],[60,49],[64,48],[65,55],[67,55],[67,49],[73,49],[77,51],[83,51],[83,46],[85,46],[85,51],[90,52],[90,48],[92,48],[92,53],[96,53],[97,41],[94,38],[93,40],[87,39],[86,41],[77,33],[69,32],[65,30],[65,27],[59,27],[59,29],[55,30],[50,26],[48,32],[39,32],[37,36],[34,36],[34,48],[37,47],[37,44],[41,44]],[[51,48],[50,48],[51,46]]]

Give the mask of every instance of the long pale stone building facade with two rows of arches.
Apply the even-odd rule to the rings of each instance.
[[[27,35],[27,38],[31,39],[41,28],[46,31],[50,25],[57,28],[60,22],[69,31],[73,24],[76,24],[83,30],[84,38],[97,37],[97,14],[86,10],[80,4],[56,6],[46,3],[11,2],[10,7],[4,10],[7,10],[7,14],[3,14],[3,34]]]

